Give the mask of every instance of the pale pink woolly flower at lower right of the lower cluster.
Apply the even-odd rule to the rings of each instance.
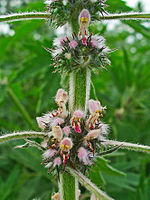
[[[89,160],[90,152],[86,150],[84,147],[80,147],[78,149],[78,158],[80,162],[83,162],[84,165],[90,165],[92,164],[91,161]]]

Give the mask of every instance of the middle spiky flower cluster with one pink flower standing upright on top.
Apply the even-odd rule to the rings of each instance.
[[[54,40],[54,49],[45,48],[54,56],[55,71],[71,72],[81,67],[91,70],[105,68],[110,64],[108,53],[111,50],[105,46],[105,39],[99,35],[88,34],[90,14],[83,9],[79,15],[80,30],[78,36],[63,36]]]

